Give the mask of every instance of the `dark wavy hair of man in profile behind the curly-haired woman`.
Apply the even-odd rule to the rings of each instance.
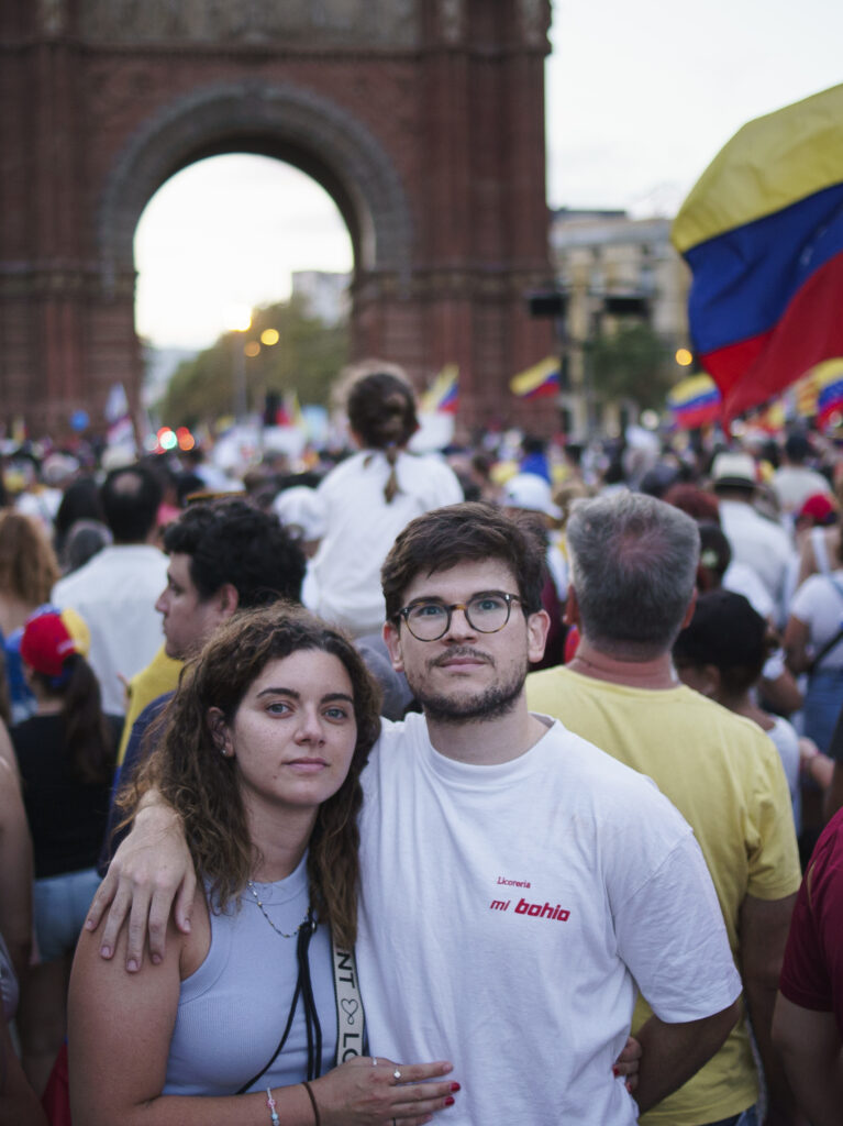
[[[301,600],[306,565],[302,547],[277,516],[248,501],[192,506],[168,526],[164,551],[190,556],[190,578],[203,599],[231,583],[240,609]]]

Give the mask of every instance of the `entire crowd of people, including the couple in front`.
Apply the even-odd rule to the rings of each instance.
[[[0,1121],[838,1124],[833,441],[346,409],[7,474]]]

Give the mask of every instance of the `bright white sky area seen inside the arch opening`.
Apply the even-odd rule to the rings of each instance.
[[[353,239],[335,199],[298,168],[226,151],[186,166],[153,195],[134,260],[138,336],[196,350],[230,327],[233,307],[287,301],[295,271],[351,274]],[[316,280],[322,293],[339,284]]]

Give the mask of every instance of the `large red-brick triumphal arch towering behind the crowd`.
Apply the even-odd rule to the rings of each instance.
[[[288,161],[355,249],[352,347],[460,414],[511,415],[547,355],[548,0],[7,0],[0,6],[0,402],[7,425],[136,402],[133,239],[204,157]],[[279,207],[284,199],[279,199]]]

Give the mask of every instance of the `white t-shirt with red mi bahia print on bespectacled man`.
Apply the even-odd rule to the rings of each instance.
[[[547,721],[467,766],[422,716],[364,771],[357,956],[371,1051],[450,1060],[450,1126],[633,1124],[612,1063],[636,983],[688,1021],[741,992],[688,823],[643,775]]]

